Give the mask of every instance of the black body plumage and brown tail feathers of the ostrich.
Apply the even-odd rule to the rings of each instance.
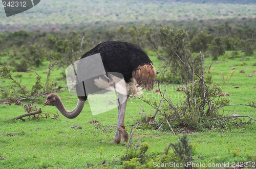
[[[153,88],[156,71],[150,58],[139,46],[127,42],[103,42],[84,53],[81,59],[97,53],[101,55],[105,72],[121,73],[125,82],[134,77],[139,86],[147,90]]]

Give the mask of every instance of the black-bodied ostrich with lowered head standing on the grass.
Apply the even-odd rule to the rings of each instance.
[[[124,143],[128,140],[128,134],[124,129],[124,115],[127,99],[130,93],[134,93],[135,95],[140,94],[139,87],[142,87],[147,91],[152,90],[154,88],[156,70],[147,54],[140,47],[132,43],[115,41],[103,42],[95,46],[90,51],[84,53],[81,59],[97,53],[100,53],[105,72],[121,73],[125,81],[127,94],[125,95],[124,101],[118,105],[116,134],[112,142],[120,143],[122,138],[122,143]],[[81,59],[79,61],[81,61]],[[80,67],[79,69],[81,72],[86,70],[86,68],[83,67]],[[102,81],[103,80],[101,78],[98,78],[90,85],[96,85],[98,88],[103,89],[104,85],[100,85],[100,82],[108,83],[109,79]],[[77,89],[78,88],[76,86],[76,90]],[[119,98],[119,93],[121,92],[119,92],[118,89],[116,91]],[[72,111],[69,111],[65,109],[59,96],[52,93],[47,96],[47,100],[44,105],[56,106],[63,116],[73,119],[80,114],[86,100],[87,95],[78,96],[77,106]]]

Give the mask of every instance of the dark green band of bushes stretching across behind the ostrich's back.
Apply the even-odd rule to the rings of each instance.
[[[131,42],[146,52],[158,52],[159,59],[162,59],[161,55],[165,58],[172,58],[177,54],[179,57],[184,57],[185,54],[193,53],[196,57],[201,51],[205,57],[217,60],[227,50],[232,51],[227,55],[228,58],[245,57],[253,55],[256,49],[255,30],[255,27],[245,22],[229,23],[227,21],[217,25],[208,24],[203,29],[192,25],[186,30],[146,24],[129,27],[120,25],[115,30],[88,30],[84,33],[20,30],[0,34],[0,54],[9,57],[7,61],[0,64],[12,65],[13,71],[25,72],[31,65],[40,66],[44,60],[49,60],[49,55],[51,55],[58,61],[58,68],[62,70],[63,77],[65,77],[65,69],[68,65],[78,60],[81,54],[104,41]],[[176,65],[179,67],[180,64],[176,63]]]

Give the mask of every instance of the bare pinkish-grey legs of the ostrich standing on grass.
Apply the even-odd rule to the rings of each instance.
[[[117,125],[116,125],[116,134],[114,136],[114,140],[112,143],[120,143],[121,136],[123,139],[122,144],[124,142],[128,141],[128,133],[124,130],[125,127],[124,127],[124,122],[123,122],[128,97],[129,96],[127,96],[126,100],[122,104],[119,104],[119,106],[118,106],[118,120],[117,120]]]

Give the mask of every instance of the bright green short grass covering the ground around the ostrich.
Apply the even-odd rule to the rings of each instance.
[[[1,58],[2,61],[5,59]],[[159,64],[157,57],[151,57],[154,64]],[[211,61],[206,59],[205,66]],[[227,92],[232,104],[247,104],[256,100],[255,57],[248,59],[219,59],[212,64],[212,78],[220,85],[223,92]],[[245,73],[235,73],[229,82],[223,83],[222,73],[226,76],[236,67],[236,71],[244,70]],[[44,75],[46,79],[47,66],[40,67],[37,73]],[[251,73],[252,77],[247,77]],[[16,74],[16,73],[14,73]],[[65,85],[60,80],[59,71],[54,70],[51,78],[57,79],[59,85]],[[23,73],[22,83],[31,87],[35,80],[33,71]],[[11,85],[9,80],[2,81],[2,87]],[[239,86],[239,88],[234,88]],[[175,102],[182,101],[181,92],[176,92],[178,85],[161,85],[167,89],[168,96]],[[69,94],[68,90],[62,89],[58,93],[67,109],[73,109],[77,98]],[[143,94],[151,100],[160,100],[160,96],[154,91]],[[41,107],[43,112],[56,114],[58,111],[52,106],[43,106],[45,97],[36,100],[36,106]],[[130,133],[137,120],[140,120],[141,106],[147,114],[154,114],[154,110],[139,99],[130,98],[127,103],[125,116],[125,129]],[[255,116],[255,109],[245,106],[230,106],[223,108],[227,116],[231,114]],[[86,102],[81,114],[75,119],[67,119],[60,116],[57,120],[22,120],[8,121],[13,117],[25,114],[21,106],[0,104],[0,167],[1,168],[98,168],[104,161],[106,168],[121,168],[121,158],[125,155],[126,146],[112,144],[117,121],[117,108],[93,116],[89,103]],[[88,123],[98,120],[101,125]],[[249,120],[249,119],[248,119]],[[72,129],[73,125],[83,127]],[[188,138],[196,146],[193,159],[196,163],[212,164],[225,163],[230,165],[237,162],[250,161],[248,156],[256,156],[255,147],[256,123],[246,124],[239,127],[231,127],[226,130],[213,128],[201,132],[188,134]],[[182,129],[184,130],[184,129]],[[182,131],[178,131],[182,133]],[[150,148],[146,154],[153,156],[164,152],[170,142],[177,142],[178,135],[171,132],[137,129],[133,136],[133,143],[147,143]],[[172,151],[172,150],[171,150]],[[224,168],[224,167],[223,167]]]

